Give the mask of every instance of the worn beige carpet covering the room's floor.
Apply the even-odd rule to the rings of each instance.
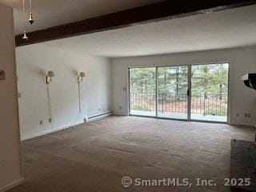
[[[230,139],[254,129],[112,116],[22,142],[26,182],[10,192],[229,191]],[[218,186],[134,186],[132,179],[214,179]]]

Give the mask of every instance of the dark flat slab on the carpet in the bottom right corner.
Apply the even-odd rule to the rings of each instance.
[[[238,181],[230,186],[232,192],[256,191],[256,143],[231,140],[230,178]],[[243,182],[239,181],[242,178]],[[250,178],[250,186],[245,186],[245,179]],[[238,184],[242,184],[239,186]]]

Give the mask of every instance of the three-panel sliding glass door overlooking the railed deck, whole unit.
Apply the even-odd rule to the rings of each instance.
[[[227,122],[228,63],[131,68],[130,114]]]

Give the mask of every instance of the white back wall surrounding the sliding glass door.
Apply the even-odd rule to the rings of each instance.
[[[243,85],[243,74],[256,72],[256,47],[211,50],[183,54],[165,54],[135,58],[112,59],[113,110],[128,114],[128,68],[135,66],[172,66],[183,64],[230,62],[230,123],[254,125],[256,122],[256,91]],[[122,106],[122,109],[119,109]],[[251,118],[244,118],[250,113]],[[237,116],[237,114],[240,114]]]

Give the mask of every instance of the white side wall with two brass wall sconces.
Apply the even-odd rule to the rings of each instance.
[[[110,59],[42,44],[16,48],[19,114],[22,139],[33,138],[83,122],[87,116],[111,110]],[[48,122],[46,72],[53,70],[50,84],[53,123]],[[78,115],[79,71],[82,82],[82,114]],[[42,121],[42,125],[40,125]]]

